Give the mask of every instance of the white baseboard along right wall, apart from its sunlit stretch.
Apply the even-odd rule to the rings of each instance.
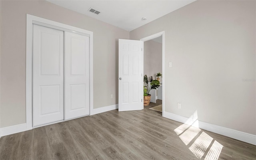
[[[164,117],[169,118],[171,120],[178,121],[178,122],[182,122],[182,123],[185,123],[189,119],[187,117],[179,116],[179,115],[172,114],[169,112],[164,112]],[[199,128],[201,128],[201,129],[208,130],[210,132],[214,132],[217,134],[221,134],[223,136],[227,136],[230,138],[234,138],[236,140],[240,140],[240,141],[243,141],[246,143],[256,145],[256,135],[254,135],[254,134],[249,134],[246,132],[241,132],[238,130],[233,130],[233,129],[225,128],[222,126],[217,126],[215,124],[210,124],[207,122],[198,121],[198,124],[199,124]]]

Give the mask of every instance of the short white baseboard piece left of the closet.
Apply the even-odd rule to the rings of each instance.
[[[18,125],[14,125],[14,126],[9,126],[9,127],[4,127],[4,128],[0,128],[0,133],[1,133],[1,137],[2,136],[7,136],[10,134],[15,134],[18,132],[23,132],[26,131],[26,123],[23,124],[18,124]]]

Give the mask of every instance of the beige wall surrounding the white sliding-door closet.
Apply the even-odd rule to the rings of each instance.
[[[118,104],[118,38],[128,31],[43,0],[0,4],[0,128],[26,122],[26,14],[94,32],[94,108]]]

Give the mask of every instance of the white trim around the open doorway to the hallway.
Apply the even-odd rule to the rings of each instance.
[[[140,40],[145,42],[145,41],[148,41],[148,40],[152,40],[154,38],[158,38],[160,36],[162,36],[162,73],[163,73],[163,76],[162,76],[162,86],[163,86],[162,87],[162,110],[163,110],[162,116],[164,117],[164,99],[165,99],[165,97],[164,97],[164,31],[156,33],[156,34],[152,34],[151,36],[147,36],[147,37],[142,38]],[[144,48],[143,48],[143,50],[144,50]],[[142,54],[142,60],[144,60],[144,54]]]

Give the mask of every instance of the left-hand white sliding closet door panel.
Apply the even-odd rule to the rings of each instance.
[[[33,24],[33,125],[64,120],[64,31]]]

